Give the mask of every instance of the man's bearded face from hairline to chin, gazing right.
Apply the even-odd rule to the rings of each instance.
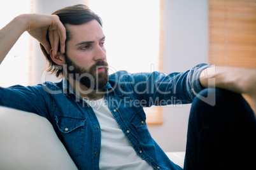
[[[90,89],[102,89],[108,82],[105,36],[96,20],[68,25],[71,39],[66,43],[68,77]]]

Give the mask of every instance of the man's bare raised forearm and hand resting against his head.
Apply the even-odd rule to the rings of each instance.
[[[0,63],[25,31],[43,44],[48,53],[52,49],[52,53],[57,54],[59,42],[60,51],[65,52],[66,29],[57,15],[24,14],[0,30]],[[46,40],[47,32],[50,43]]]

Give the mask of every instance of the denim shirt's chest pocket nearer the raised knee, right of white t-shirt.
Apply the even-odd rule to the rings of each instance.
[[[148,141],[150,140],[150,133],[146,126],[146,114],[143,108],[141,108],[139,112],[136,112],[136,114],[133,115],[130,122],[134,126],[134,128],[136,128],[136,131],[141,141],[143,141],[144,143],[148,143]]]

